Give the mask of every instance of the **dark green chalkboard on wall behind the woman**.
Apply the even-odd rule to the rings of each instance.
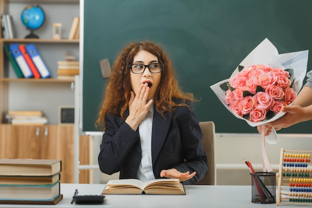
[[[228,78],[265,38],[279,53],[311,49],[311,9],[312,0],[85,0],[83,131],[97,131],[107,84],[99,60],[113,64],[125,43],[152,40],[171,56],[183,90],[201,99],[195,104],[200,121],[214,121],[217,133],[257,133],[228,112],[209,86]],[[312,133],[311,126],[280,133]]]

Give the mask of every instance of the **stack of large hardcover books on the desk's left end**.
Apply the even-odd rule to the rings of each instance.
[[[0,204],[57,204],[61,171],[61,160],[0,159]]]

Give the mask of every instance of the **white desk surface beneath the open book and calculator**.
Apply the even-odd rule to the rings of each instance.
[[[276,204],[251,203],[251,186],[185,186],[186,195],[106,195],[104,205],[70,204],[79,195],[99,195],[104,184],[61,184],[63,199],[57,205],[0,205],[0,208],[277,208]],[[290,204],[280,207],[295,208]],[[306,207],[306,206],[304,206]]]

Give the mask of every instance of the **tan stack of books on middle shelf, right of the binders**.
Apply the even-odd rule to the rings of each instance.
[[[58,79],[75,79],[79,75],[79,61],[57,61]]]

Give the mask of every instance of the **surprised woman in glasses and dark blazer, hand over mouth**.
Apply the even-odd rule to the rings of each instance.
[[[117,57],[96,121],[104,131],[99,166],[120,179],[178,178],[193,185],[208,172],[191,93],[180,90],[157,44],[133,42]]]

